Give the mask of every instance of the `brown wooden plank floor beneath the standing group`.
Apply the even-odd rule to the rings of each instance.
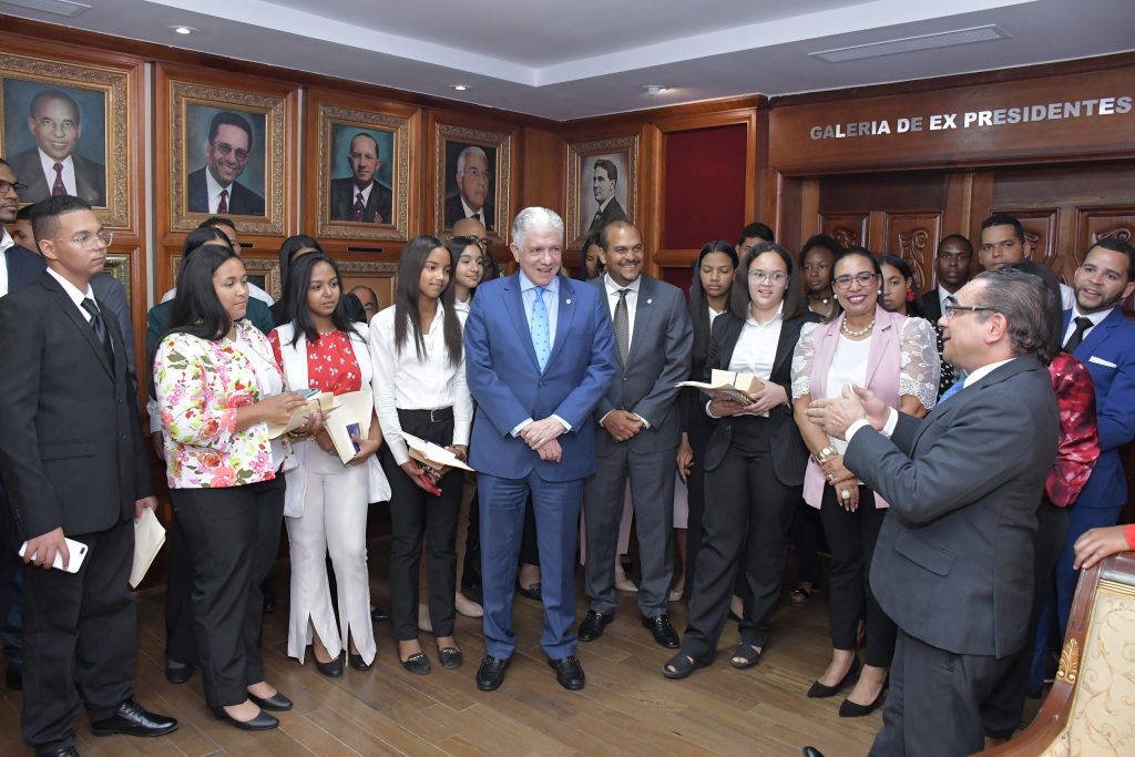
[[[385,541],[371,545],[375,599],[388,607]],[[807,699],[810,682],[829,655],[826,595],[804,605],[783,605],[773,642],[755,668],[728,664],[737,642],[735,624],[722,638],[717,662],[684,681],[665,680],[661,665],[671,651],[654,644],[638,622],[633,595],[621,595],[615,622],[602,639],[580,644],[587,688],[562,689],[538,645],[540,607],[518,598],[519,648],[504,685],[480,692],[473,682],[485,654],[480,621],[459,616],[457,641],[465,664],[446,671],[427,634],[422,644],[434,672],[411,675],[397,662],[388,623],[376,625],[379,656],[367,673],[346,670],[342,679],[319,675],[308,655],[301,667],[286,654],[287,566],[272,577],[280,607],[266,616],[268,680],[295,700],[280,727],[245,733],[213,720],[205,708],[201,676],[175,685],[162,675],[162,594],[138,602],[140,701],[173,715],[180,727],[161,739],[91,735],[84,717],[77,747],[84,756],[131,755],[800,755],[802,745],[827,757],[865,755],[881,727],[878,713],[842,720],[841,697]],[[587,605],[579,592],[579,615]],[[686,607],[671,605],[675,628],[686,626]],[[428,645],[428,646],[427,646]],[[31,754],[19,739],[22,698],[0,693],[0,755]]]

